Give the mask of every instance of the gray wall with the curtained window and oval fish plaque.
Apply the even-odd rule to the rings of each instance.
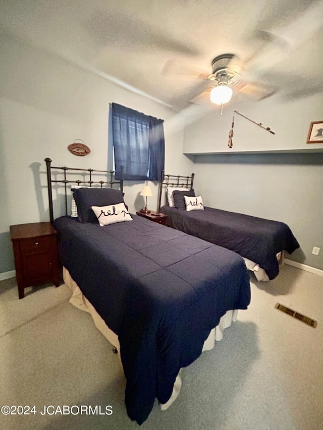
[[[165,119],[167,169],[192,170],[183,155],[183,127],[174,127],[166,107],[4,34],[0,55],[0,274],[15,268],[9,226],[49,220],[46,157],[54,166],[107,168],[109,103]],[[89,155],[68,151],[76,139],[90,147]],[[149,185],[148,206],[156,209],[157,184]],[[142,186],[125,184],[131,212],[144,205]]]

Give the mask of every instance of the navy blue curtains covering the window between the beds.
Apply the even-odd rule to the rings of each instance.
[[[163,122],[112,103],[116,179],[160,179],[165,163]]]

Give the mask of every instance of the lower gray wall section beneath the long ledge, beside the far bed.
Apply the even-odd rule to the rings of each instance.
[[[285,222],[300,243],[287,258],[323,270],[323,154],[196,158],[194,189],[206,206]]]

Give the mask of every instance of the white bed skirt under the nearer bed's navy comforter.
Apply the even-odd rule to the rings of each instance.
[[[121,356],[120,356],[120,353],[121,353],[120,344],[119,344],[119,339],[118,339],[118,336],[116,335],[116,333],[114,333],[105,324],[105,322],[102,320],[102,318],[98,315],[98,313],[95,311],[92,304],[83,295],[83,293],[80,290],[80,288],[78,287],[77,283],[72,279],[69,271],[65,267],[63,267],[63,278],[64,278],[64,282],[66,283],[66,285],[68,285],[69,288],[72,290],[72,297],[70,298],[70,303],[73,304],[74,306],[76,306],[76,308],[81,309],[82,311],[85,311],[92,316],[92,319],[94,321],[96,328],[103,334],[103,336],[107,340],[109,340],[109,342],[115,348],[117,348],[120,363],[122,365]],[[226,329],[227,327],[230,327],[232,321],[234,321],[234,322],[237,321],[237,315],[238,315],[238,310],[228,311],[221,318],[219,325],[217,327],[214,327],[210,331],[208,338],[204,342],[202,352],[213,349],[214,345],[216,343],[216,340],[217,341],[222,340],[224,329]],[[162,410],[168,409],[171,406],[171,404],[174,402],[174,400],[177,398],[177,396],[179,395],[179,392],[180,392],[181,386],[182,386],[180,373],[181,373],[181,371],[177,375],[171,398],[169,399],[169,401],[167,403],[160,405]]]

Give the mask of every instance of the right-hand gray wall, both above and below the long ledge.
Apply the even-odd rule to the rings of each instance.
[[[187,118],[184,135],[186,153],[208,153],[188,155],[194,161],[194,188],[207,206],[287,223],[301,246],[288,258],[321,270],[323,152],[312,153],[322,151],[322,144],[306,144],[306,138],[310,122],[323,119],[322,104],[322,93],[293,102],[278,95],[254,104],[233,100],[224,106],[223,116],[214,109],[197,121]],[[234,109],[276,135],[236,115],[234,147],[229,150]],[[321,248],[318,256],[311,254],[314,246]]]

